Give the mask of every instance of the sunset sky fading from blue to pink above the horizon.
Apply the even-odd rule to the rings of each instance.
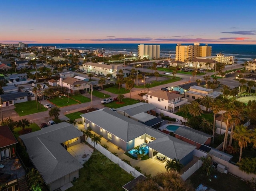
[[[0,0],[0,43],[256,44],[256,0]]]

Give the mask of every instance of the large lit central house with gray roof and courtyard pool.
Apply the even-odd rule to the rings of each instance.
[[[146,144],[150,158],[154,158],[159,152],[166,156],[166,159],[179,159],[183,165],[193,159],[196,146],[108,108],[88,112],[81,116],[85,128],[90,126],[94,132],[126,152],[141,144]]]

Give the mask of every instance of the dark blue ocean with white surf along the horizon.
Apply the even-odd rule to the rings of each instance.
[[[175,58],[175,49],[177,44],[160,44],[160,57]],[[190,44],[182,44],[190,45]],[[205,45],[200,43],[200,45]],[[105,53],[136,53],[138,44],[28,44],[31,46],[56,46],[56,48],[66,49],[104,49]],[[238,63],[244,63],[256,59],[256,45],[237,45],[237,44],[208,44],[212,46],[212,56],[217,53],[235,56]]]

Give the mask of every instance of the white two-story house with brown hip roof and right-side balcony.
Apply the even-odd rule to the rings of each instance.
[[[168,112],[174,112],[176,108],[188,102],[187,99],[182,98],[183,95],[172,93],[168,91],[158,90],[152,93],[147,93],[143,96],[145,101]]]

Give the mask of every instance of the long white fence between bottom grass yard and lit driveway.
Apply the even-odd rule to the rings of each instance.
[[[94,143],[92,143],[92,140],[90,137],[87,138],[88,144],[94,147]],[[97,149],[99,152],[104,154],[108,159],[113,161],[114,163],[118,164],[122,169],[124,169],[126,172],[130,173],[133,177],[137,178],[140,175],[143,175],[124,161],[122,161],[120,158],[106,150],[104,147],[102,147],[100,144],[95,144],[95,149]],[[144,176],[144,175],[143,175]]]

